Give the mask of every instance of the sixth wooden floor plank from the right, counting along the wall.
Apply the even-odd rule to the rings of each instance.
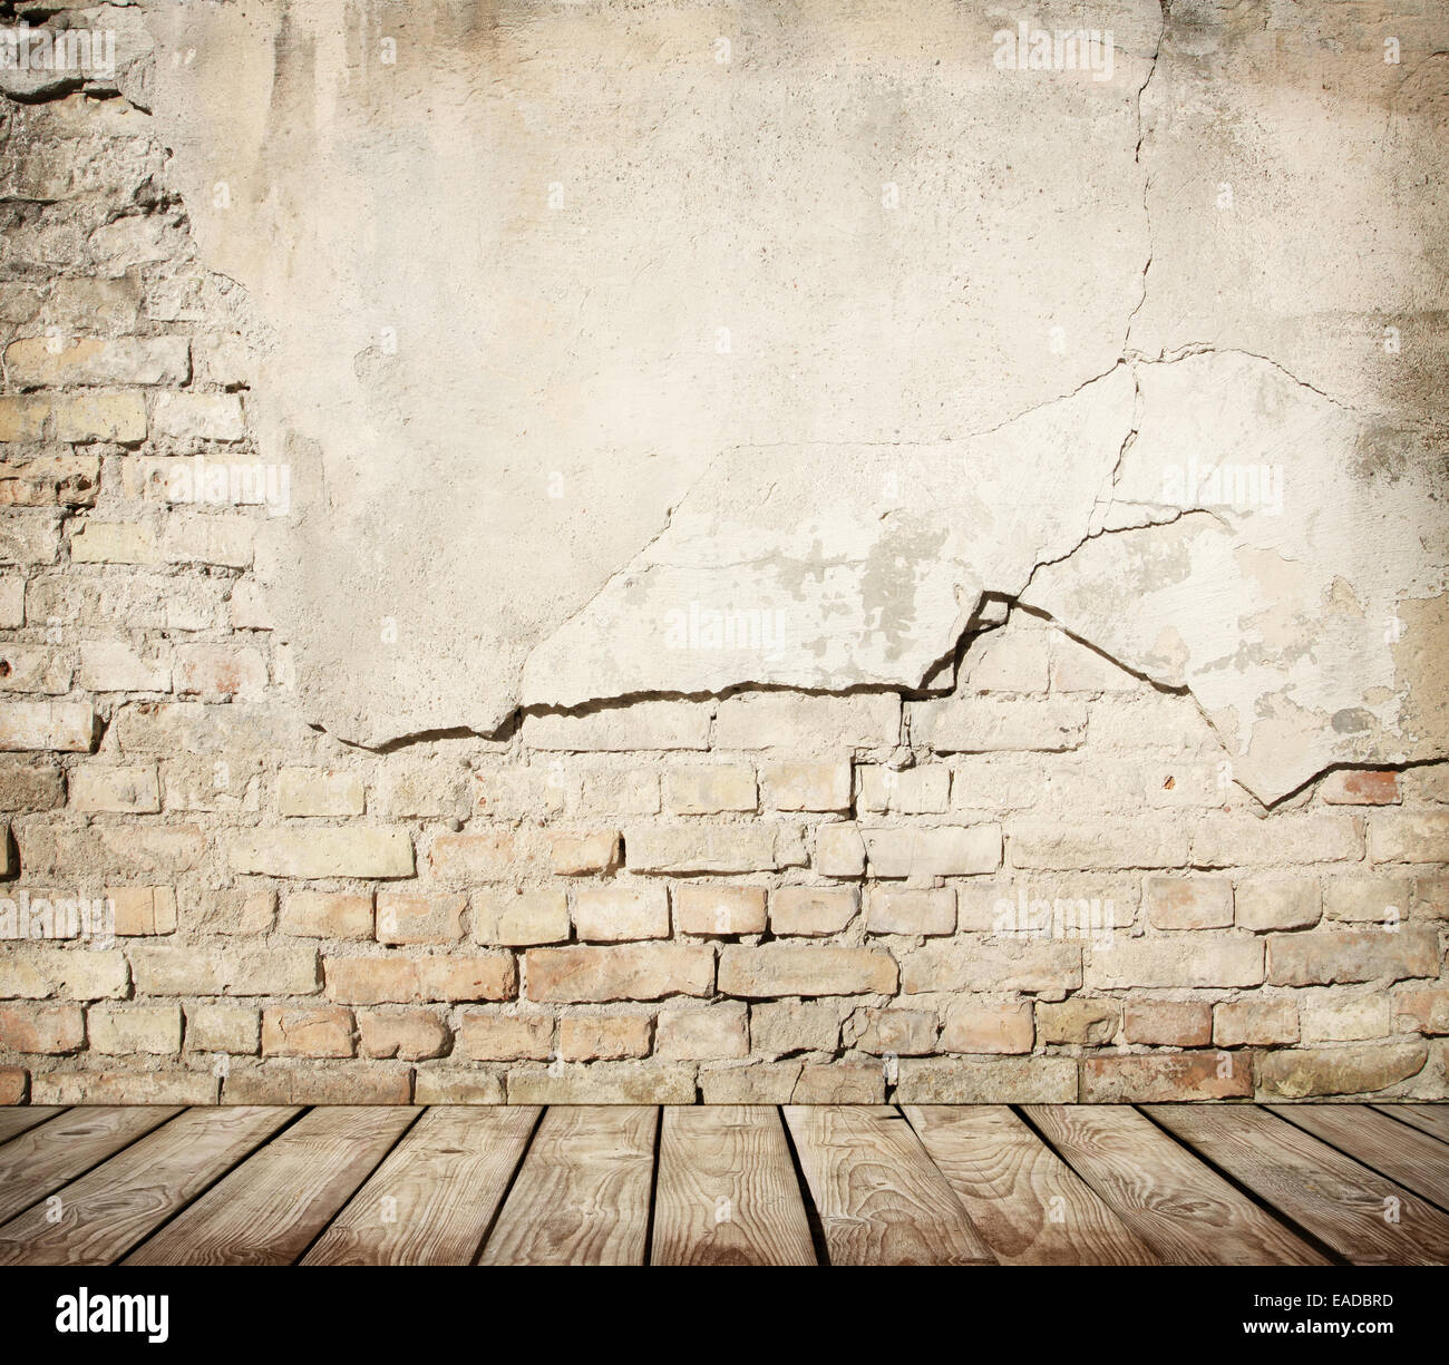
[[[994,1265],[895,1110],[785,1109],[832,1265]]]

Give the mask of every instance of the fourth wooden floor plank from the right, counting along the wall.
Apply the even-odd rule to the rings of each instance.
[[[1026,1116],[1169,1265],[1329,1265],[1135,1109],[1029,1104]]]

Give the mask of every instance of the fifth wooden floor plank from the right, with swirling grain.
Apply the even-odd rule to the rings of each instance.
[[[906,1117],[1003,1265],[1158,1264],[1004,1104],[913,1104]]]

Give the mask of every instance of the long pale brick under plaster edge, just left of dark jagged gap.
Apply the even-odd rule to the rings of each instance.
[[[714,719],[716,749],[891,748],[900,742],[901,703],[894,693],[817,697],[801,693],[736,693]]]

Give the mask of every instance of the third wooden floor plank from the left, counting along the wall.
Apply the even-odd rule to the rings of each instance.
[[[190,1109],[0,1227],[0,1265],[110,1265],[184,1209],[294,1109]]]

